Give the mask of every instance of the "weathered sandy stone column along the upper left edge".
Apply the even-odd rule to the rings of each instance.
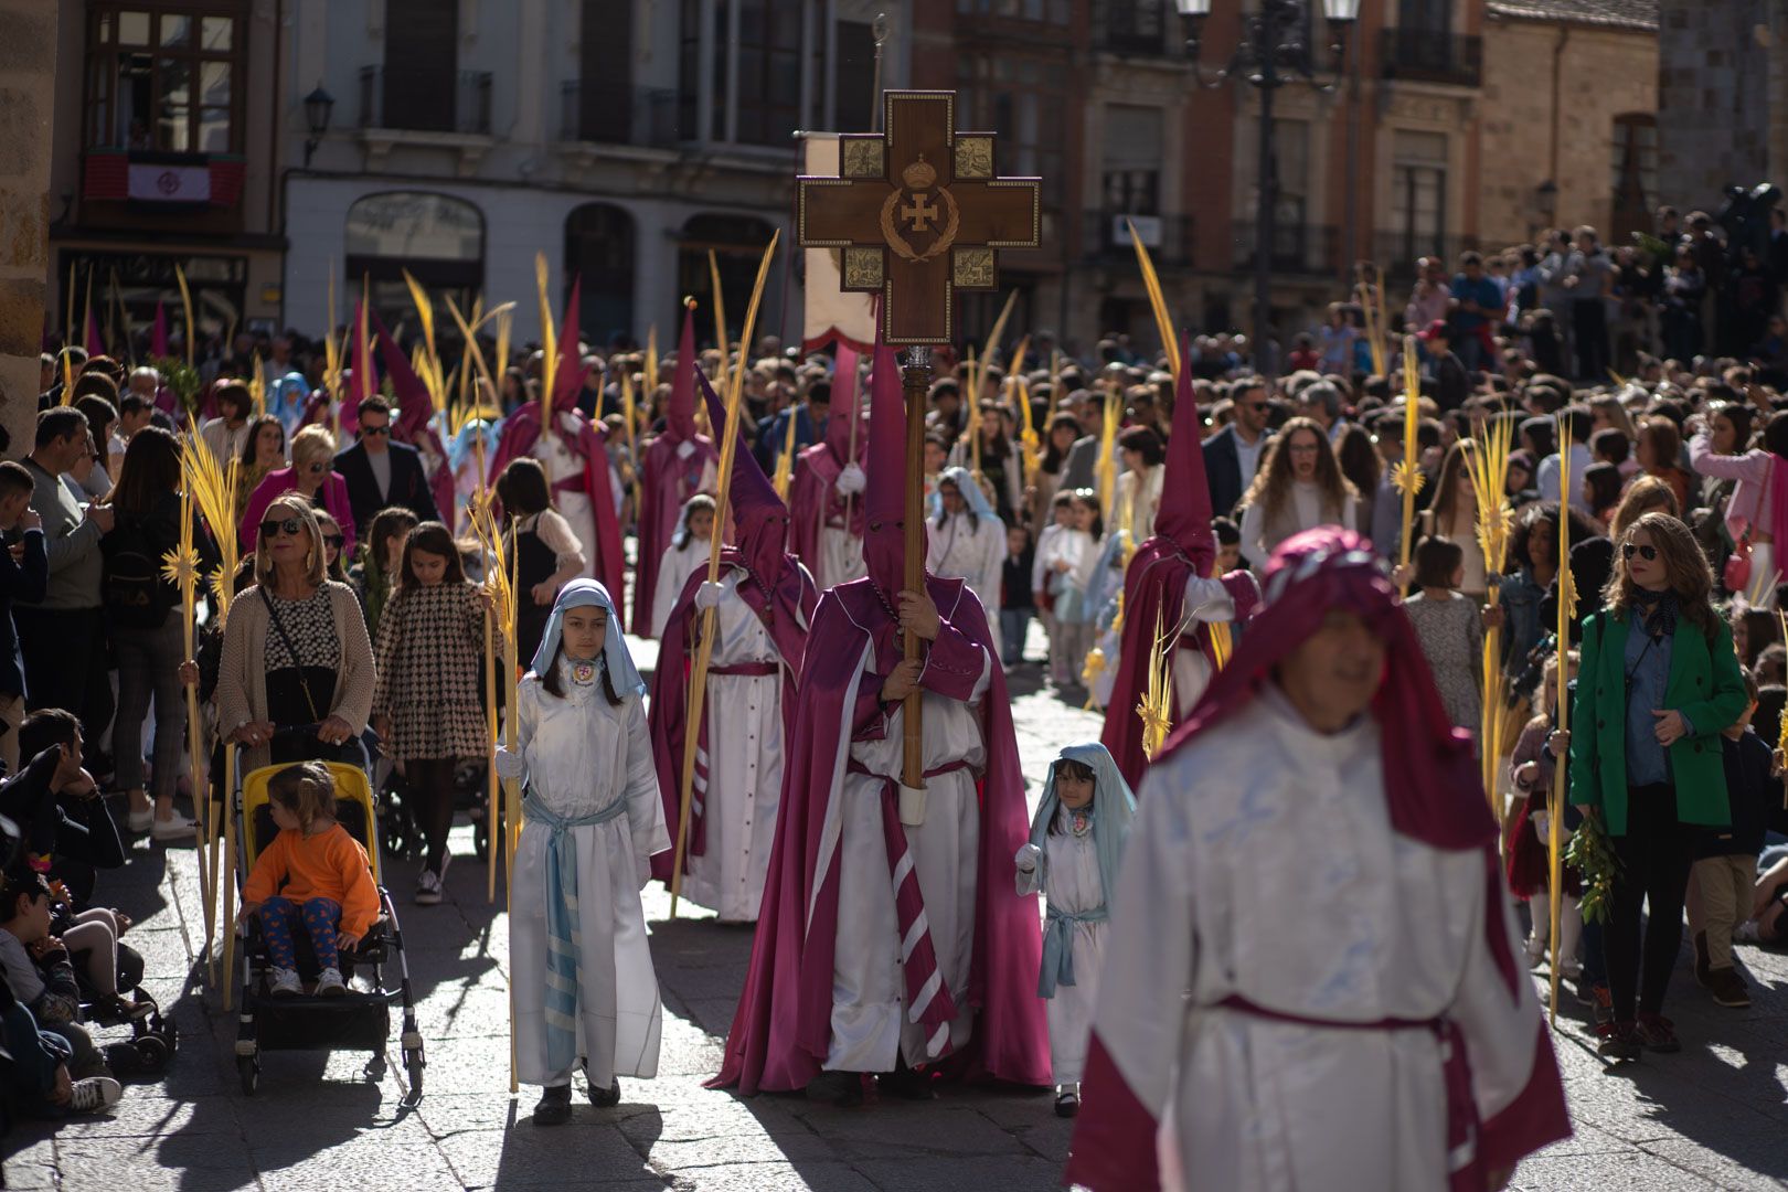
[[[0,0],[0,425],[30,449],[50,268],[55,5]]]

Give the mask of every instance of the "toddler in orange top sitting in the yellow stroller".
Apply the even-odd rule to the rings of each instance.
[[[379,917],[367,849],[336,822],[336,788],[320,761],[290,765],[268,783],[279,835],[254,861],[243,915],[256,915],[274,963],[270,992],[304,992],[295,929],[316,954],[318,994],[345,994],[340,953],[352,951]]]

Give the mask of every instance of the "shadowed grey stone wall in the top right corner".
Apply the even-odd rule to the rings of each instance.
[[[1657,173],[1663,202],[1720,204],[1727,184],[1770,177],[1770,95],[1788,68],[1767,0],[1659,0]],[[1783,120],[1777,114],[1777,120]]]

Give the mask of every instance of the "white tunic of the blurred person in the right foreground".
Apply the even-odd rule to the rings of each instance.
[[[1482,1119],[1527,1085],[1532,983],[1511,994],[1484,935],[1484,856],[1391,831],[1379,726],[1305,726],[1275,686],[1153,767],[1137,802],[1096,1024],[1162,1122],[1168,1188],[1446,1187],[1432,1031],[1450,1017]],[[1514,953],[1514,922],[1502,908]]]

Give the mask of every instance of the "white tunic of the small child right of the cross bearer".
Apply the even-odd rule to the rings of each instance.
[[[1105,906],[1105,881],[1100,877],[1100,851],[1092,833],[1073,833],[1073,811],[1058,808],[1055,831],[1044,836],[1046,872],[1017,870],[1017,892],[1042,890],[1050,906],[1069,915]],[[1023,858],[1035,845],[1019,849]],[[1075,983],[1057,983],[1050,1004],[1050,1063],[1057,1085],[1075,1085],[1087,1063],[1087,1037],[1092,1031],[1092,1006],[1100,986],[1100,960],[1105,956],[1109,922],[1073,924]]]

